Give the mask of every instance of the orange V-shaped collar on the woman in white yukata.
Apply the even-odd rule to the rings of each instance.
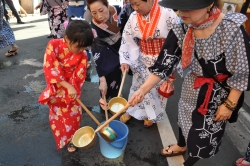
[[[141,14],[136,14],[142,40],[153,39],[155,29],[161,16],[161,7],[158,5],[158,0],[154,0],[154,4],[149,13],[149,21],[143,19]]]

